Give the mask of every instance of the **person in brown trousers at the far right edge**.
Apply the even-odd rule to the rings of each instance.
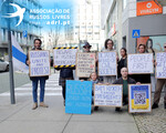
[[[164,44],[164,52],[166,52],[166,43]],[[155,63],[155,65],[156,64],[157,64],[157,62]],[[153,104],[152,109],[158,108],[160,93],[162,93],[162,90],[165,84],[166,84],[166,79],[157,79],[155,94],[154,94],[154,104]],[[166,109],[166,92],[165,92],[165,96],[164,96],[164,109]]]

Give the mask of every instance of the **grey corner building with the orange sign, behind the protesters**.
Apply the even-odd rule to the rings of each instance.
[[[156,52],[163,51],[166,43],[166,1],[102,0],[102,10],[105,7],[107,10],[101,18],[102,28],[105,38],[114,40],[117,51],[124,47],[128,53],[135,53],[137,45],[146,45],[148,40],[152,40]],[[136,33],[139,38],[134,38],[134,30],[141,31]]]

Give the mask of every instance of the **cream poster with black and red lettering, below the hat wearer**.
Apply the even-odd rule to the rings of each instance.
[[[79,78],[90,78],[92,72],[95,72],[95,53],[77,53],[76,75]]]

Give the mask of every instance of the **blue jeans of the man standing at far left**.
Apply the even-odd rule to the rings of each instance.
[[[38,102],[38,82],[40,81],[40,102],[44,101],[44,91],[45,91],[45,78],[43,76],[37,76],[32,81],[32,95],[33,95],[33,102]]]

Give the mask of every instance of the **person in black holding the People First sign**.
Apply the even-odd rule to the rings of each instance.
[[[146,52],[146,47],[145,44],[139,44],[138,45],[138,53],[145,53]],[[141,83],[151,83],[151,74],[133,74],[131,75],[136,82]]]

